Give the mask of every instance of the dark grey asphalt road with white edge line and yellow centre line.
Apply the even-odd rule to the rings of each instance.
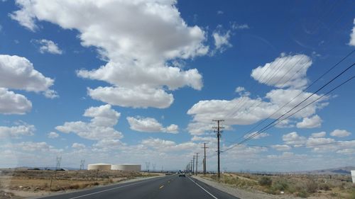
[[[131,183],[121,183],[112,186],[92,188],[84,191],[53,195],[50,199],[217,199],[236,198],[233,195],[219,191],[194,178],[178,175],[151,178]]]

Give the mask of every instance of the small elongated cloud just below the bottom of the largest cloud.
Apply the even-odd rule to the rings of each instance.
[[[168,132],[178,133],[178,125],[163,127],[155,118],[127,117],[131,130],[139,132]]]

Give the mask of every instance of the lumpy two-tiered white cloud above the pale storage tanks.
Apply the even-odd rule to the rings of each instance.
[[[120,139],[123,137],[121,132],[114,130],[120,115],[116,110],[111,109],[110,105],[90,107],[84,112],[84,116],[92,118],[89,123],[66,122],[55,129],[65,133],[74,132],[89,140]]]

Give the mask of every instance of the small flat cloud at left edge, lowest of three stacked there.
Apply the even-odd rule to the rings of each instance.
[[[4,139],[6,137],[20,138],[22,136],[31,136],[34,135],[33,132],[35,132],[35,126],[28,125],[26,123],[23,123],[22,125],[12,126],[12,127],[0,126],[1,139]]]

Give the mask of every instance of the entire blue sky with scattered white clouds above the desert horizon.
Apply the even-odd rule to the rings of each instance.
[[[225,171],[354,166],[355,81],[327,93],[355,74],[354,8],[0,1],[0,168],[62,157],[72,168],[84,159],[185,169],[196,153],[201,164],[206,142],[216,171],[212,120],[224,120]]]

